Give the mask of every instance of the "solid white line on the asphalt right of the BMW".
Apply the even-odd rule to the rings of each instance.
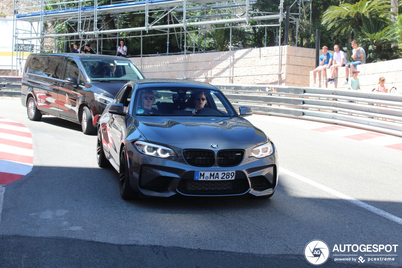
[[[395,215],[392,215],[392,214],[390,214],[388,212],[385,212],[384,210],[381,210],[379,208],[376,208],[374,206],[366,204],[365,202],[361,202],[360,200],[357,200],[357,199],[355,199],[355,198],[353,198],[351,196],[347,196],[346,194],[342,194],[342,193],[340,193],[338,191],[335,191],[335,190],[333,190],[333,189],[331,189],[329,187],[326,187],[326,186],[324,186],[324,185],[322,185],[322,184],[320,184],[318,182],[312,181],[311,179],[308,179],[306,177],[303,177],[301,175],[293,173],[292,171],[284,169],[283,167],[279,167],[279,171],[282,172],[282,173],[285,173],[286,175],[289,175],[289,176],[291,176],[291,177],[293,177],[295,179],[298,179],[300,181],[308,183],[311,186],[314,186],[314,187],[316,187],[316,188],[318,188],[320,190],[323,190],[323,191],[325,191],[325,192],[327,192],[329,194],[337,196],[338,198],[342,198],[342,199],[344,199],[346,201],[349,201],[352,204],[355,204],[356,206],[359,206],[361,208],[367,209],[367,210],[369,210],[369,211],[371,211],[371,212],[373,212],[373,213],[375,213],[375,214],[377,214],[379,216],[383,216],[386,219],[389,219],[391,221],[394,221],[394,222],[399,223],[400,225],[402,225],[402,219],[401,218],[399,218],[399,217],[397,217]]]

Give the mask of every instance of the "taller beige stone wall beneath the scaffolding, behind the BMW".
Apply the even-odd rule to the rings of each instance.
[[[309,85],[314,50],[284,46],[232,52],[130,58],[146,78],[195,78],[209,83]],[[281,59],[281,71],[279,71]],[[142,63],[142,64],[141,64]],[[282,74],[278,75],[279,72]],[[225,77],[232,75],[234,77]],[[215,77],[211,77],[215,76]],[[205,78],[203,78],[205,77]]]

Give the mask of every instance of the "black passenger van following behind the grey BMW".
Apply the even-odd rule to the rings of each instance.
[[[31,54],[25,63],[21,103],[28,118],[42,114],[81,124],[95,133],[106,105],[130,80],[144,75],[127,58],[97,54]]]

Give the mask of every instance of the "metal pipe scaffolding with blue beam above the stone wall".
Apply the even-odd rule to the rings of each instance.
[[[31,44],[35,53],[69,52],[72,41],[80,42],[80,47],[91,41],[96,42],[96,51],[104,54],[110,51],[103,49],[103,41],[115,39],[117,47],[119,37],[124,33],[124,39],[137,38],[141,43],[139,54],[131,56],[143,57],[152,56],[143,54],[143,39],[146,37],[167,35],[166,51],[160,54],[172,54],[169,52],[172,38],[180,44],[178,53],[188,54],[205,52],[205,42],[201,44],[199,40],[212,28],[229,27],[232,37],[234,27],[248,31],[252,27],[265,27],[267,46],[267,27],[274,27],[275,45],[280,53],[281,45],[287,45],[287,38],[285,43],[281,42],[281,25],[285,16],[289,15],[291,30],[295,29],[297,46],[300,24],[311,25],[311,1],[295,0],[291,7],[298,12],[285,14],[283,0],[280,0],[277,13],[258,12],[253,8],[257,0],[112,0],[106,5],[98,5],[98,0],[14,0],[14,20],[31,23],[31,29],[16,27],[13,40],[16,44]],[[140,25],[122,26],[121,17],[129,13],[143,19]],[[230,38],[229,49],[240,48],[244,47],[235,47]],[[16,70],[21,69],[22,60],[17,57]]]

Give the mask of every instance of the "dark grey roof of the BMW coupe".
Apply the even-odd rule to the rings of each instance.
[[[164,79],[164,78],[152,78],[152,79],[141,79],[141,80],[132,80],[130,81],[133,85],[140,85],[142,88],[147,87],[160,87],[160,86],[168,86],[168,87],[196,87],[196,88],[204,88],[204,89],[213,89],[217,90],[216,87],[209,83],[193,81],[193,80],[182,80],[182,79]],[[165,84],[165,85],[161,85]]]

